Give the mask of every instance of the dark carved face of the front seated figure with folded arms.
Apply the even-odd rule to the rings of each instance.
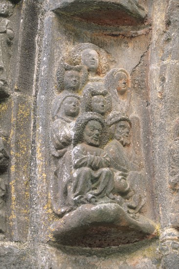
[[[83,141],[91,146],[99,146],[99,140],[102,134],[101,124],[96,120],[90,120],[83,132]]]

